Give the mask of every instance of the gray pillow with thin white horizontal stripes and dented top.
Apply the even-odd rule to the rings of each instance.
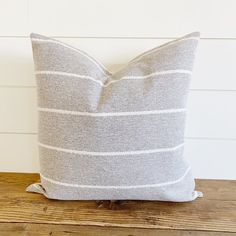
[[[111,74],[85,52],[32,34],[41,183],[27,191],[63,200],[201,196],[183,158],[198,39],[156,47]]]

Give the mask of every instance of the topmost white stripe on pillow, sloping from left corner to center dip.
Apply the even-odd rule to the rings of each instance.
[[[65,48],[69,48],[69,49],[71,49],[71,50],[73,50],[73,51],[76,51],[76,52],[80,53],[81,55],[83,55],[83,56],[85,56],[87,59],[89,59],[91,62],[93,62],[93,63],[100,69],[100,71],[103,72],[103,74],[104,74],[105,76],[111,74],[111,73],[106,69],[106,67],[105,67],[102,63],[98,62],[98,61],[95,60],[93,57],[91,57],[91,56],[88,55],[87,53],[85,53],[85,52],[83,52],[83,51],[81,51],[81,50],[79,50],[79,49],[77,49],[77,48],[74,48],[74,47],[69,46],[69,45],[67,45],[67,44],[65,44],[65,43],[62,43],[62,42],[59,42],[59,41],[56,41],[56,40],[52,40],[52,39],[31,38],[31,40],[32,40],[32,42],[36,42],[36,43],[37,43],[37,42],[41,42],[41,43],[54,43],[54,44],[61,45],[61,46],[65,47]]]

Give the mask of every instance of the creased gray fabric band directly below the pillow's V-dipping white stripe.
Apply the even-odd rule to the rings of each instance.
[[[91,88],[94,82],[89,80],[65,78],[60,75],[37,75],[37,78],[39,94],[46,95],[39,96],[40,107],[74,111],[79,106],[80,111],[99,112],[185,107],[190,81],[188,74],[163,75],[156,77],[156,81],[123,80],[111,84],[109,89],[102,90],[96,96],[96,91]],[[88,86],[88,83],[92,83],[91,86]],[[79,88],[79,92],[74,89],[75,87]],[[95,89],[99,89],[99,85]],[[113,89],[115,96],[112,96]],[[70,91],[70,93],[66,94],[65,91]],[[51,93],[53,96],[47,96]]]

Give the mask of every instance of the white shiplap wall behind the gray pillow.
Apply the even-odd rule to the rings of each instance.
[[[185,155],[198,178],[236,179],[235,0],[0,0],[0,171],[39,171],[30,32],[115,71],[196,30]]]

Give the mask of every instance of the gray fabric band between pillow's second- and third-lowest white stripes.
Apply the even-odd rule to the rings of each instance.
[[[184,118],[184,113],[81,117],[42,112],[39,140],[56,147],[93,152],[169,148],[184,142]]]

